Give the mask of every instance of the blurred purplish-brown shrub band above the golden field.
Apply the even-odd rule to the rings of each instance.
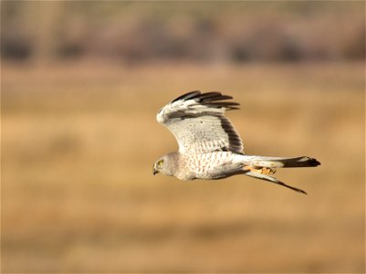
[[[1,55],[129,63],[364,58],[363,3],[298,4],[301,11],[285,3],[271,13],[242,5],[2,2]]]

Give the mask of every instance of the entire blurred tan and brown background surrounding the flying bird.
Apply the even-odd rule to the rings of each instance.
[[[2,272],[365,271],[364,2],[1,2]],[[190,90],[277,171],[152,176]]]

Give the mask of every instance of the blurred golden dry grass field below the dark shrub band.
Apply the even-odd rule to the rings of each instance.
[[[364,64],[2,66],[2,272],[365,271]],[[316,157],[235,176],[152,176],[155,121],[221,90],[248,154]]]

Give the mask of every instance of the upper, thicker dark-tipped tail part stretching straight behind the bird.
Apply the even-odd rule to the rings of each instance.
[[[253,156],[253,158],[248,162],[249,165],[255,167],[267,167],[267,168],[312,167],[312,166],[318,166],[320,164],[318,160],[310,158],[308,156],[302,156],[296,158]]]

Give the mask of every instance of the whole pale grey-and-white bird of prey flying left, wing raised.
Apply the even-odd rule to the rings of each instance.
[[[307,194],[271,176],[277,168],[312,167],[320,163],[308,156],[295,158],[246,155],[243,142],[225,111],[238,110],[233,97],[221,92],[194,90],[183,94],[156,116],[173,133],[178,152],[163,155],[153,164],[152,173],[180,180],[214,180],[236,174],[266,180]]]

